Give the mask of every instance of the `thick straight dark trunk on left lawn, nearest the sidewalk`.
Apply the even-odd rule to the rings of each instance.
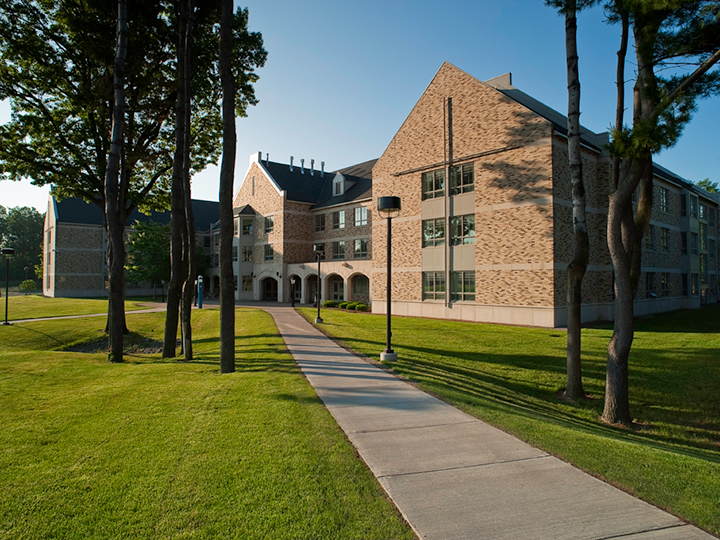
[[[235,175],[235,79],[231,70],[233,1],[223,0],[220,79],[223,89],[223,158],[220,169],[220,372],[235,371],[235,277],[232,270],[232,195]]]

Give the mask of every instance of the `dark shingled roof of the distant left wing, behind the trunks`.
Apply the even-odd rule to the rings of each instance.
[[[82,199],[63,199],[57,201],[58,221],[61,223],[76,223],[78,225],[102,225],[103,213],[96,204],[87,203]],[[201,201],[193,199],[193,216],[195,218],[195,229],[206,231],[210,225],[218,220],[218,203],[213,201]],[[153,212],[151,215],[142,214],[136,208],[130,214],[127,221],[132,225],[136,221],[141,223],[170,223],[170,211]]]

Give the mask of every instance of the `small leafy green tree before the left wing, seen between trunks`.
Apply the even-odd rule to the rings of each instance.
[[[161,223],[136,222],[127,244],[125,265],[131,283],[157,283],[170,279],[170,226]]]

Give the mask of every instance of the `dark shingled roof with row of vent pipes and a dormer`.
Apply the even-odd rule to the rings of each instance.
[[[293,165],[291,171],[290,165],[274,161],[262,161],[261,164],[278,187],[287,191],[288,200],[311,203],[315,209],[372,197],[372,168],[376,162],[377,159],[371,159],[324,174],[318,170],[310,174],[310,169],[307,168],[301,172],[302,169],[297,165]],[[332,179],[337,172],[341,173],[350,185],[343,195],[332,197]]]

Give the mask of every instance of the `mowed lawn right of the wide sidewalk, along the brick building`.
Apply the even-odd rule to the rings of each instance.
[[[315,311],[299,310],[313,321]],[[379,359],[385,316],[323,310],[323,331]],[[583,329],[571,405],[562,330],[393,317],[398,374],[468,413],[720,534],[720,306],[641,319],[631,352],[637,429],[600,421],[612,329]]]

